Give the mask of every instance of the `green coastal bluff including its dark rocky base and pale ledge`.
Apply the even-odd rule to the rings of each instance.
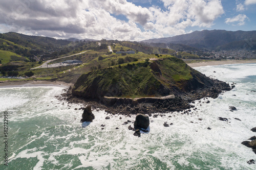
[[[191,107],[190,102],[204,97],[217,98],[229,84],[214,80],[189,67],[176,57],[127,63],[122,66],[106,67],[82,74],[72,88],[73,98],[97,101],[104,106],[125,106],[133,114],[141,109],[183,110]],[[166,98],[166,96],[172,96]],[[152,107],[152,109],[148,109]],[[112,109],[112,111],[114,111]]]

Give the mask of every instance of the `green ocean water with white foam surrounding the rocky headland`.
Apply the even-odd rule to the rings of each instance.
[[[241,144],[256,135],[256,64],[196,69],[236,87],[195,101],[189,114],[151,116],[150,132],[140,138],[128,130],[132,123],[123,125],[135,115],[93,110],[95,119],[82,128],[84,106],[55,98],[63,87],[0,88],[0,169],[256,169],[247,163],[256,154]]]

